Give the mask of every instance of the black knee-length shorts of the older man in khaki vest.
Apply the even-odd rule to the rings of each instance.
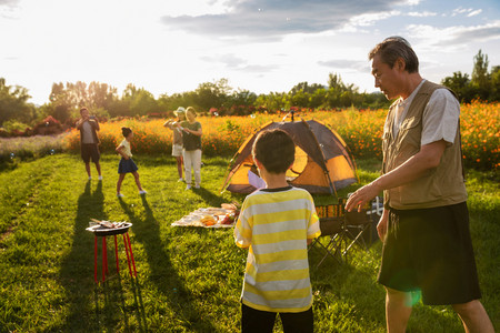
[[[467,203],[390,209],[378,281],[397,291],[421,291],[429,305],[480,299]]]

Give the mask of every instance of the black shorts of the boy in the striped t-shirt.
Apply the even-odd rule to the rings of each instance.
[[[242,333],[272,333],[277,312],[261,311],[241,303],[241,332]],[[283,333],[312,333],[314,319],[312,306],[303,312],[280,312]]]

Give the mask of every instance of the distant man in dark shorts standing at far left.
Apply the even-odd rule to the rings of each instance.
[[[94,115],[90,117],[87,108],[80,109],[81,119],[77,121],[77,129],[80,130],[80,145],[81,145],[81,159],[86,163],[87,174],[91,180],[90,174],[90,159],[96,164],[96,169],[99,173],[99,180],[102,180],[101,165],[99,164],[99,138],[97,132],[99,131],[99,122]]]

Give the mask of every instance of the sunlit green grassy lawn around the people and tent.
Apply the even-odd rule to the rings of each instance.
[[[102,157],[102,182],[87,181],[80,158],[71,154],[0,172],[0,332],[239,331],[247,253],[234,245],[232,230],[170,226],[197,208],[242,201],[242,195],[219,193],[228,159],[203,159],[202,189],[197,191],[184,191],[177,182],[168,155],[137,157],[136,162],[148,194],[141,198],[127,176],[123,200],[114,195],[116,155]],[[358,167],[362,183],[378,174],[376,161],[358,161]],[[498,183],[498,175],[468,173],[482,302],[500,330]],[[91,218],[133,223],[137,281],[129,278],[120,242],[120,275],[108,245],[110,278],[94,283],[93,235],[84,230]],[[348,264],[328,259],[311,268],[317,332],[384,332],[384,292],[376,283],[380,251],[377,242],[369,251],[356,249]],[[311,264],[319,259],[311,251]],[[449,306],[417,304],[408,332],[462,327]]]

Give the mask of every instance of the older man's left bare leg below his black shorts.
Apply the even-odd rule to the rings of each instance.
[[[404,333],[411,315],[411,293],[386,287],[386,322],[388,333]]]

